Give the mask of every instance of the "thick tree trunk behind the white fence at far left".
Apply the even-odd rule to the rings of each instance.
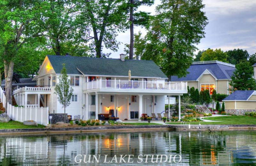
[[[4,77],[5,77],[5,112],[7,113],[7,102],[12,104],[12,76],[13,76],[13,61],[7,62],[4,60]]]

